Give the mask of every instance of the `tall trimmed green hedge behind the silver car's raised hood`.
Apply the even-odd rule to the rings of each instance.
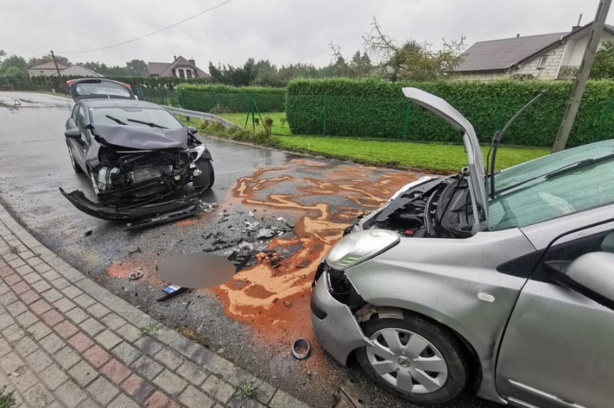
[[[549,146],[554,141],[571,82],[438,81],[390,83],[381,80],[294,80],[287,86],[286,116],[293,134],[326,134],[458,142],[460,136],[443,119],[409,103],[401,87],[413,86],[448,100],[472,122],[482,143],[497,125],[537,95],[546,95],[509,129],[508,144]],[[591,81],[583,97],[570,146],[614,137],[614,81]],[[408,110],[407,110],[408,109]]]

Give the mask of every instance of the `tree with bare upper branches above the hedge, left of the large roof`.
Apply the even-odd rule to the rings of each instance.
[[[435,80],[454,70],[464,59],[465,37],[450,43],[443,39],[442,48],[433,50],[430,44],[414,39],[398,45],[397,41],[382,32],[376,18],[371,26],[371,32],[362,36],[364,48],[381,59],[381,73],[393,82]]]

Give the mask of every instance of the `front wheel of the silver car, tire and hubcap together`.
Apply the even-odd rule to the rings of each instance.
[[[442,404],[465,389],[469,368],[462,345],[446,328],[410,313],[403,319],[374,316],[361,326],[374,345],[356,350],[356,360],[384,390],[415,404]],[[384,336],[395,342],[392,348]]]

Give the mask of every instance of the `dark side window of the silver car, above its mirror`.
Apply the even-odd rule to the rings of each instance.
[[[608,225],[610,225],[609,228],[604,230],[602,227],[600,232],[594,232],[589,235],[578,232],[578,237],[575,239],[569,240],[568,237],[561,237],[553,242],[546,251],[544,258],[537,265],[531,278],[540,281],[551,281],[549,279],[551,273],[548,266],[549,262],[571,263],[589,252],[614,253],[614,228],[611,222]]]

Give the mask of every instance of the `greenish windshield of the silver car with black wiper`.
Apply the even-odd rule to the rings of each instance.
[[[614,203],[614,159],[596,160],[612,154],[614,140],[600,141],[496,173],[495,190],[501,193],[489,201],[490,230],[525,227]],[[578,163],[584,164],[574,168]]]

